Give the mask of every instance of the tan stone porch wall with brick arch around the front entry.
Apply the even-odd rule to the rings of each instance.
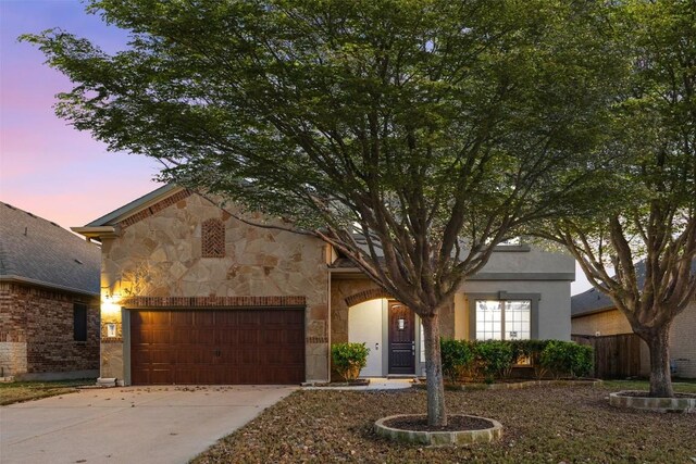
[[[331,281],[332,343],[348,341],[349,308],[375,298],[390,297],[368,278],[356,278],[353,276],[344,278],[340,274],[333,276]],[[455,337],[453,303],[445,306],[440,312],[440,335],[446,338]]]

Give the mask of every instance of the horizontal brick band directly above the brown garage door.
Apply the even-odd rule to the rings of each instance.
[[[269,308],[306,306],[304,297],[130,297],[126,308]]]

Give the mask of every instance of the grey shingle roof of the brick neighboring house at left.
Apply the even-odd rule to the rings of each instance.
[[[100,265],[96,244],[0,202],[0,280],[99,294]]]

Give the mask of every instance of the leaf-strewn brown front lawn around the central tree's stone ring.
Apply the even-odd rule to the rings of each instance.
[[[696,414],[617,410],[607,401],[614,390],[611,385],[448,391],[450,412],[495,418],[505,436],[498,443],[439,449],[391,443],[372,431],[380,417],[423,413],[425,391],[301,390],[194,462],[694,462]]]

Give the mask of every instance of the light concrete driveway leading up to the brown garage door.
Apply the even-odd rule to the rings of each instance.
[[[86,389],[0,409],[0,462],[186,463],[294,387]]]

